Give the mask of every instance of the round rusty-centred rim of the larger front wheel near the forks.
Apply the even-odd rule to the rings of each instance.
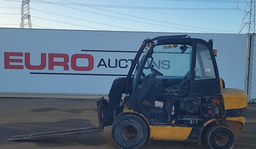
[[[137,129],[132,125],[126,125],[122,128],[122,137],[125,140],[133,140],[137,136]]]

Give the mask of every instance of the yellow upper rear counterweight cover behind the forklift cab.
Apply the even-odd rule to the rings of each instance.
[[[243,90],[224,88],[221,89],[225,110],[241,109],[247,106],[247,94]]]

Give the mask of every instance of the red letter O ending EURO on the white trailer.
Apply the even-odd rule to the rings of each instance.
[[[82,67],[76,65],[77,59],[88,59],[88,66]],[[90,54],[74,54],[71,57],[71,68],[77,71],[90,71],[93,69],[94,59]]]

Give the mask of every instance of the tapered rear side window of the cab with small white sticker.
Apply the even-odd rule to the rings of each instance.
[[[195,80],[216,78],[209,49],[202,43],[197,44]]]

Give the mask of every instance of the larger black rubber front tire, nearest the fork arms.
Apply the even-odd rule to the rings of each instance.
[[[132,127],[136,130],[136,135],[133,138],[129,138],[130,140],[123,134],[124,130],[126,130],[124,128],[126,127]],[[147,139],[148,128],[140,116],[136,114],[124,114],[115,120],[111,134],[115,145],[121,149],[138,149]]]

